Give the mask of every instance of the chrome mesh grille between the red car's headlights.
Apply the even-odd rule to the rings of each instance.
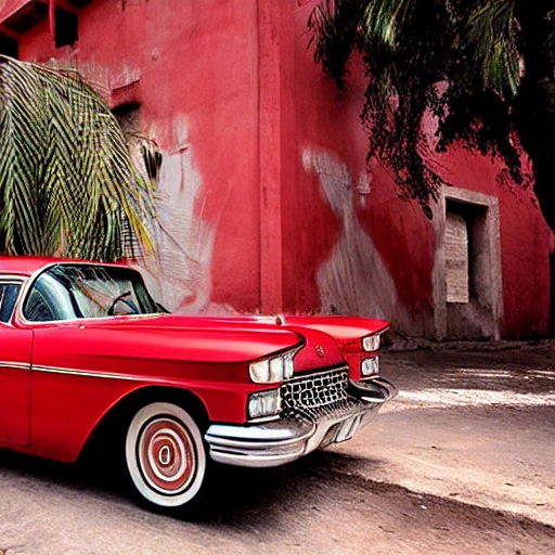
[[[314,420],[348,412],[359,404],[348,386],[346,366],[291,379],[281,387],[283,415]]]

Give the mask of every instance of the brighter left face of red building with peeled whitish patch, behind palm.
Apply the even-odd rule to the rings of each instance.
[[[158,210],[164,301],[186,311],[254,311],[259,292],[258,23],[243,0],[94,0],[76,48],[48,21],[24,60],[75,60],[113,104],[140,104],[164,153]],[[223,306],[223,307],[222,307]]]

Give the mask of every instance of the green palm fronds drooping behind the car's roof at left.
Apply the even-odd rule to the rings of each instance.
[[[103,99],[75,72],[1,57],[0,251],[150,256],[152,186]]]

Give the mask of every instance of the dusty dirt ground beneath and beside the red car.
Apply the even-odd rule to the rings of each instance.
[[[105,476],[0,452],[0,554],[553,554],[554,354],[385,352],[400,395],[370,426],[280,468],[220,468],[194,522]]]

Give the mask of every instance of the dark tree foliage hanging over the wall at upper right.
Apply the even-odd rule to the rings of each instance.
[[[499,156],[522,183],[524,149],[555,231],[555,0],[322,0],[308,25],[315,61],[343,93],[360,53],[369,159],[405,196],[428,215],[438,196],[422,126],[431,111],[438,152],[457,143]]]

